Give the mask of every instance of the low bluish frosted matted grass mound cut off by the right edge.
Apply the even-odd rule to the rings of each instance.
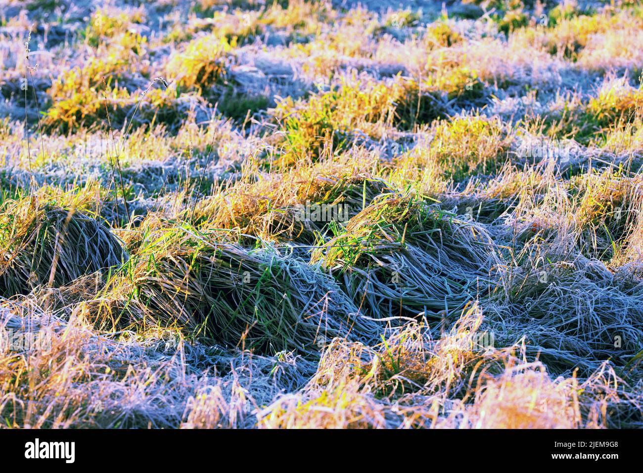
[[[515,270],[509,281],[498,323],[516,341],[524,335],[551,372],[578,367],[588,375],[606,360],[624,366],[643,349],[643,285],[615,277],[600,261],[579,255]]]

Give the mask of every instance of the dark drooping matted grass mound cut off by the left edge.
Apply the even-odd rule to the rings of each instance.
[[[0,295],[61,286],[121,264],[120,241],[102,223],[75,209],[37,207],[35,199],[7,203],[0,213]]]

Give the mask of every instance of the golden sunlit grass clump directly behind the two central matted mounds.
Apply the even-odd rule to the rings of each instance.
[[[347,155],[255,182],[240,181],[197,203],[191,217],[201,226],[235,228],[264,241],[314,244],[332,221],[355,216],[389,188],[367,171],[375,164],[372,156]]]

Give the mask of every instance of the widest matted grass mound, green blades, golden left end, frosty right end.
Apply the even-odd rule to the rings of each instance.
[[[273,354],[309,355],[333,337],[377,336],[376,322],[358,315],[329,275],[293,256],[184,228],[160,230],[149,242],[109,290],[144,307],[130,310],[134,322],[178,325],[190,337]]]

